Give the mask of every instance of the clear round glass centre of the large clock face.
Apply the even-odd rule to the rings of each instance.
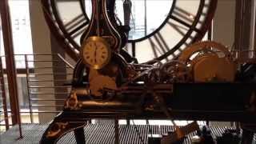
[[[131,0],[131,2],[130,40],[143,38],[161,26],[173,4],[172,0]],[[124,23],[122,3],[122,0],[117,0],[116,14],[121,22]]]

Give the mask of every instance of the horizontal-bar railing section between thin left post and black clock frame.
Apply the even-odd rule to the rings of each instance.
[[[29,59],[31,56],[33,60]],[[58,54],[25,54],[24,57],[30,122],[34,123],[34,114],[40,117],[39,114],[57,114],[62,110],[70,88],[65,84],[72,78],[73,70]]]

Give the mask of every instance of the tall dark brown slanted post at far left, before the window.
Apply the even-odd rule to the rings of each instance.
[[[2,19],[2,36],[6,53],[6,74],[10,95],[10,109],[13,125],[18,124],[20,138],[22,138],[21,118],[18,104],[17,74],[14,61],[14,44],[10,22],[10,10],[8,0],[1,0],[0,14]]]

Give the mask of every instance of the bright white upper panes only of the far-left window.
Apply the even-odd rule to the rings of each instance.
[[[10,18],[14,42],[14,54],[33,54],[31,29],[30,29],[30,9],[28,0],[10,0]],[[2,27],[0,26],[0,34]],[[2,36],[0,36],[0,54],[5,55]],[[28,58],[33,60],[32,57]],[[5,61],[5,58],[2,58]],[[22,69],[26,67],[25,57],[23,55],[15,56],[16,68]],[[33,63],[30,62],[30,67]],[[3,62],[5,68],[5,62]]]

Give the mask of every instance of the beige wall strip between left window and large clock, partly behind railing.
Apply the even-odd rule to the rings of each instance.
[[[51,43],[50,43],[50,30],[46,25],[45,18],[42,13],[42,6],[40,0],[30,1],[30,22],[31,22],[31,31],[32,31],[32,40],[33,40],[33,50],[34,54],[51,54]],[[35,57],[34,60],[42,60],[42,58]],[[34,62],[34,66],[44,67],[44,66],[52,66],[51,62],[43,63],[43,62]],[[34,70],[34,73],[53,73],[51,69],[38,69]],[[53,79],[52,75],[40,75],[36,76],[36,78],[40,80]],[[53,82],[38,82],[34,83],[35,85],[40,86],[54,86]],[[39,92],[45,93],[54,93],[53,89],[45,89],[38,88]],[[52,94],[40,94],[38,98],[49,98],[53,99],[54,95]],[[54,102],[38,102],[38,105],[46,104],[46,105],[54,105]],[[55,110],[52,107],[39,107],[38,110]],[[39,122],[46,123],[50,122],[51,119],[54,118],[55,114],[38,114]]]

